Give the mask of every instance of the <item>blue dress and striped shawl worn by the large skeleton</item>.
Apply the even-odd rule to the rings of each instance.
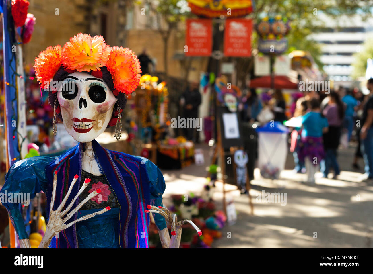
[[[63,230],[57,239],[52,239],[50,247],[148,248],[150,219],[149,213],[146,213],[145,210],[147,204],[163,205],[162,194],[166,185],[162,173],[156,165],[145,158],[104,149],[95,140],[92,141],[92,147],[105,179],[102,183],[110,185],[110,193],[115,194],[117,207],[112,207],[104,214],[78,222]],[[0,195],[23,192],[29,193],[30,199],[33,199],[37,193],[43,190],[47,195],[48,218],[54,171],[57,170],[56,200],[53,207],[53,210],[56,210],[65,197],[75,174],[85,172],[82,171],[82,152],[83,144],[78,144],[59,157],[32,157],[16,162],[6,174],[6,181],[0,190]],[[65,207],[78,193],[82,183],[81,179],[84,181],[84,178],[79,176]],[[87,187],[87,190],[89,189]],[[81,195],[79,198],[86,197],[86,195],[83,196]],[[79,204],[78,200],[72,208]],[[9,212],[19,239],[28,238],[19,211],[19,204],[4,202],[3,205]],[[90,209],[81,208],[66,223],[91,212],[99,211],[103,205]],[[166,221],[162,215],[154,214],[154,219],[159,230],[166,227]]]

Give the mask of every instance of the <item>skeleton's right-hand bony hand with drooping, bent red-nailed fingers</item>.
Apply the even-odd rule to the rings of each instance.
[[[178,221],[176,214],[172,214],[171,216],[170,211],[165,207],[154,207],[153,205],[148,205],[148,210],[145,210],[145,212],[161,214],[166,219],[167,225],[171,226],[171,239],[169,238],[167,227],[159,232],[163,248],[179,248],[181,241],[181,226],[185,223],[191,224],[194,229],[197,230],[198,236],[202,235],[201,230],[191,220],[184,219]]]

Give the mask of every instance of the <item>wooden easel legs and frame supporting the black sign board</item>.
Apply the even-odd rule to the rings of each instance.
[[[214,150],[214,155],[213,155],[213,158],[212,158],[212,161],[211,163],[214,164],[216,163],[216,160],[217,160],[217,157],[219,155],[219,158],[220,158],[220,173],[222,174],[222,183],[223,183],[223,210],[224,210],[224,213],[225,215],[227,214],[226,212],[226,200],[225,200],[225,193],[227,192],[231,192],[231,191],[235,191],[237,189],[231,189],[231,190],[226,190],[225,189],[225,151],[224,151],[224,148],[223,148],[223,144],[222,144],[222,136],[221,136],[221,125],[220,125],[220,119],[217,118],[216,120],[216,126],[217,126],[217,143],[216,143],[216,147],[215,147],[215,150]],[[234,151],[236,151],[237,149],[243,149],[242,147],[231,147],[229,150],[229,155],[231,155],[231,157],[233,158],[233,154],[234,154]],[[234,161],[233,161],[234,163]],[[235,164],[233,164],[233,172],[234,174],[236,174],[236,169],[235,169]],[[207,175],[208,177],[210,176],[210,171]],[[236,176],[236,175],[235,175]],[[251,215],[254,215],[254,205],[253,205],[253,202],[251,201],[251,195],[250,195],[250,189],[251,189],[251,184],[250,184],[250,180],[249,180],[249,174],[248,172],[246,172],[246,189],[247,189],[247,194],[249,196],[249,205],[250,205],[250,209],[251,209]]]

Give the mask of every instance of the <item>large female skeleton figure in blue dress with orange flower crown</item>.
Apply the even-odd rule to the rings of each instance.
[[[47,195],[46,233],[39,248],[147,248],[149,212],[163,248],[178,248],[181,226],[162,207],[163,175],[151,161],[109,151],[94,139],[116,126],[119,140],[126,95],[137,87],[138,59],[101,36],[78,34],[35,59],[55,119],[79,142],[59,157],[31,157],[10,167],[1,192]],[[18,204],[6,202],[21,248],[30,248]],[[171,225],[171,238],[166,226]],[[194,227],[195,225],[192,224]],[[200,230],[195,227],[197,232]]]

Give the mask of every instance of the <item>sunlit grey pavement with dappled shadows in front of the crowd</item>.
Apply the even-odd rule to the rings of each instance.
[[[201,193],[209,164],[208,147],[201,147],[205,151],[205,166],[163,171],[166,206],[172,194]],[[289,169],[282,171],[279,180],[273,181],[262,179],[256,169],[250,192],[254,215],[250,214],[247,195],[240,195],[238,190],[230,192],[227,199],[235,202],[238,220],[223,228],[222,238],[212,247],[372,248],[373,186],[361,182],[362,174],[351,170],[353,155],[353,147],[340,151],[342,171],[338,179],[319,178],[313,186],[301,183],[306,179],[305,174],[294,174]],[[362,161],[360,166],[363,166]],[[236,187],[226,185],[226,188]],[[273,197],[277,193],[282,194],[285,201],[262,197],[263,194]],[[222,209],[222,184],[219,182],[213,197],[217,208]],[[227,237],[228,234],[231,237]]]

